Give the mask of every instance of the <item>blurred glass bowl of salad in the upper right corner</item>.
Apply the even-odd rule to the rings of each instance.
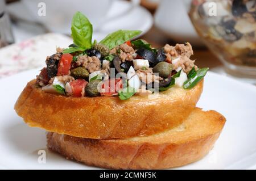
[[[197,33],[226,72],[256,84],[256,1],[184,2]]]

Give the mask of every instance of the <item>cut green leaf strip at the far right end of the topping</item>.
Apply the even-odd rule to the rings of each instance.
[[[204,78],[204,76],[207,74],[207,71],[209,68],[203,68],[196,71],[195,77],[190,77],[187,79],[187,81],[184,82],[183,88],[184,89],[191,89],[196,86],[198,82],[201,81],[201,79]]]

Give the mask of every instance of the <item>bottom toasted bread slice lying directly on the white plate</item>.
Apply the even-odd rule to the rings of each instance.
[[[47,133],[48,149],[68,159],[109,169],[166,169],[203,158],[220,135],[225,117],[195,108],[170,131],[147,137],[93,140]]]

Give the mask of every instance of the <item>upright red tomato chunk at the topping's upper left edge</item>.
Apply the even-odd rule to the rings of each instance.
[[[57,75],[68,75],[68,72],[71,68],[71,62],[73,60],[73,56],[69,53],[65,53],[61,56],[59,61],[59,67]]]

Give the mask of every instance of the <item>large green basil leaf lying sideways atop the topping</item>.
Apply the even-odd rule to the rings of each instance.
[[[118,45],[125,43],[126,41],[132,39],[135,36],[141,34],[142,31],[139,30],[118,30],[107,35],[100,44],[105,45],[109,49],[113,49]]]

